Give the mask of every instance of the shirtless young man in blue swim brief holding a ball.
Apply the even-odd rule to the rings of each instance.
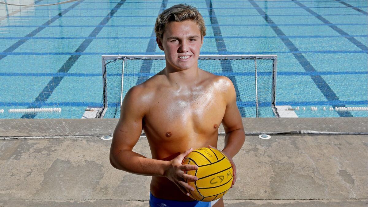
[[[226,132],[222,152],[233,166],[233,187],[236,166],[232,158],[245,139],[234,85],[227,77],[198,68],[206,28],[197,9],[185,4],[168,8],[158,16],[155,32],[158,46],[165,53],[166,67],[125,95],[110,162],[114,168],[152,176],[151,207],[165,202],[170,207],[224,206],[222,198],[201,202],[188,196],[188,191],[194,189],[184,179],[198,178],[184,171],[198,167],[181,165],[181,161],[193,149],[216,147],[222,123]],[[152,159],[132,151],[142,129]]]

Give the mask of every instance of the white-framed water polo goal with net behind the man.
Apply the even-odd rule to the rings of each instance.
[[[207,55],[198,59],[199,68],[230,78],[242,117],[278,117],[276,65],[276,55]],[[164,67],[163,55],[102,56],[103,97],[96,117],[120,117],[121,102],[127,91]]]

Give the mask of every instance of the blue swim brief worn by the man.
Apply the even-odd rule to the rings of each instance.
[[[211,207],[220,199],[204,202],[204,201],[176,201],[159,199],[149,192],[149,206],[150,207]]]

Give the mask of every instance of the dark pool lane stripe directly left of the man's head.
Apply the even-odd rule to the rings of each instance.
[[[166,9],[166,6],[167,6],[167,0],[162,0],[159,14],[161,14]],[[153,30],[152,30],[151,37],[156,37],[155,28],[153,28]],[[146,49],[146,53],[156,52],[156,45],[157,45],[156,38],[149,39],[149,42],[148,42],[148,45],[147,45],[147,49]],[[142,74],[142,73],[150,73],[151,72],[151,69],[152,69],[152,63],[153,63],[153,60],[143,60],[142,61],[141,69],[139,70],[139,73],[140,74]],[[138,80],[137,80],[136,85],[143,83],[147,79],[148,79],[147,76],[143,76],[141,78],[138,77]]]

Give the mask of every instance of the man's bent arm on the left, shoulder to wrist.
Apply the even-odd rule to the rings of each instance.
[[[110,163],[114,168],[138,175],[163,176],[169,161],[146,158],[132,151],[141,135],[147,107],[143,90],[142,86],[135,86],[124,97],[111,143]]]

